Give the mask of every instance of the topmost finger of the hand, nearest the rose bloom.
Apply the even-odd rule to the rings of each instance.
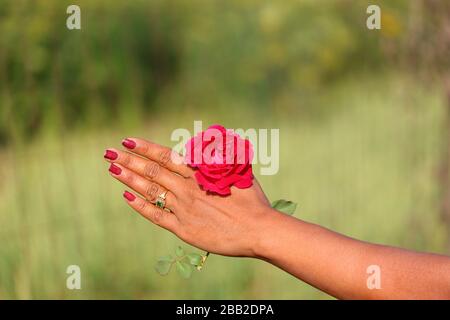
[[[194,171],[184,163],[184,157],[170,148],[138,138],[124,139],[122,145],[128,150],[153,160],[159,163],[161,167],[167,168],[183,177],[187,178],[193,175]]]

